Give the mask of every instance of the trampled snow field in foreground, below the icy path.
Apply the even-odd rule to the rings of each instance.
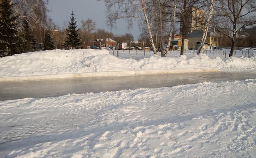
[[[0,157],[256,157],[256,79],[0,102]]]

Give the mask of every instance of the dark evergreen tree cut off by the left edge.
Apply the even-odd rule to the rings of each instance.
[[[21,38],[18,36],[17,18],[13,14],[11,0],[0,3],[0,57],[11,56],[20,52]]]

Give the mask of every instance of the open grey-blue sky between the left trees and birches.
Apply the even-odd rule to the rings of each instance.
[[[73,9],[78,27],[81,26],[81,20],[90,18],[96,22],[96,28],[105,29],[116,35],[131,33],[135,37],[135,40],[140,35],[137,24],[135,23],[134,29],[129,31],[126,28],[125,20],[119,20],[118,23],[116,23],[116,29],[113,28],[111,30],[106,24],[105,2],[97,0],[49,0],[48,9],[50,9],[48,16],[51,17],[53,22],[60,28],[67,26]]]

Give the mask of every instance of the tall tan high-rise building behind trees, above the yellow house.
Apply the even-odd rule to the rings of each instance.
[[[185,17],[185,23],[187,25],[187,33],[191,33],[194,30],[200,30],[204,28],[205,10],[198,9],[196,7],[190,7],[188,9],[188,15]],[[180,23],[180,28],[182,28]]]

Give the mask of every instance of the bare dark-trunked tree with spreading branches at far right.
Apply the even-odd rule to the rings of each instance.
[[[233,56],[237,33],[256,24],[256,0],[217,0],[217,31],[232,40],[229,57]]]

